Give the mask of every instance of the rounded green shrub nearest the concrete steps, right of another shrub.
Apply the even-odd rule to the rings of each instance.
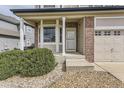
[[[20,74],[22,76],[44,75],[54,69],[56,63],[51,50],[39,48],[25,52],[26,60],[21,61]]]

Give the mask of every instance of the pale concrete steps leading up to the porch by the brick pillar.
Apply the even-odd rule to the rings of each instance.
[[[81,54],[66,54],[66,71],[92,71],[94,64],[88,63],[85,55]]]

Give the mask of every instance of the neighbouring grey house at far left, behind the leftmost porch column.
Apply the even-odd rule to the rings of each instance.
[[[5,9],[0,6],[0,9]],[[0,52],[20,48],[20,20],[7,13],[0,11]],[[29,47],[34,43],[34,30],[25,22],[24,47]]]

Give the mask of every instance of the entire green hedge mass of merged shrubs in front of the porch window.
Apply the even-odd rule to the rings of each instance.
[[[55,66],[54,55],[46,48],[3,52],[0,53],[0,80],[18,74],[26,77],[44,75]]]

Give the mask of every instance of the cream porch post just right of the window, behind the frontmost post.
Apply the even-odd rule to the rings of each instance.
[[[56,20],[56,52],[59,52],[59,19]]]

